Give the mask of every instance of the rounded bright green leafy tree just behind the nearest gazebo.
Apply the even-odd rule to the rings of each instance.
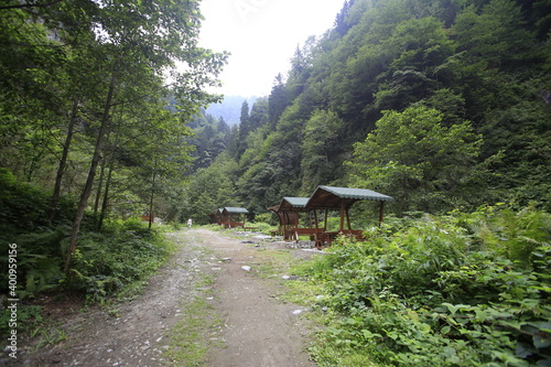
[[[445,127],[426,107],[386,111],[347,162],[354,185],[397,198],[399,212],[434,212],[468,203],[471,187],[484,173],[476,163],[480,137],[468,121]]]

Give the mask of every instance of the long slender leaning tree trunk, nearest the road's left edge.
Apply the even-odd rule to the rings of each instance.
[[[90,197],[91,190],[94,187],[94,177],[96,175],[96,171],[101,160],[101,148],[104,145],[104,138],[109,127],[109,112],[111,109],[112,98],[115,95],[115,86],[117,84],[117,74],[118,74],[118,64],[114,69],[114,74],[111,76],[111,83],[109,85],[109,93],[107,94],[107,100],[104,108],[104,116],[101,117],[101,126],[99,128],[98,137],[96,140],[96,147],[94,150],[94,155],[91,158],[90,170],[88,172],[88,177],[86,180],[86,184],[84,186],[83,193],[80,195],[80,199],[78,201],[78,206],[75,214],[75,219],[73,220],[73,230],[71,233],[71,241],[69,248],[67,251],[67,257],[65,259],[65,273],[68,272],[71,267],[71,260],[73,259],[73,252],[75,252],[76,244],[78,241],[78,235],[80,233],[80,224],[83,222],[84,212],[86,209],[86,204],[88,198]]]

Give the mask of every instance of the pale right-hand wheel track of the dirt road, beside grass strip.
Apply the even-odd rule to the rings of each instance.
[[[198,234],[218,258],[228,259],[222,263],[215,283],[216,310],[226,320],[223,333],[226,348],[213,350],[209,365],[314,366],[303,352],[304,331],[295,314],[303,310],[277,301],[274,283],[251,273],[262,266],[255,247],[204,230]],[[269,244],[261,246],[270,247]]]

